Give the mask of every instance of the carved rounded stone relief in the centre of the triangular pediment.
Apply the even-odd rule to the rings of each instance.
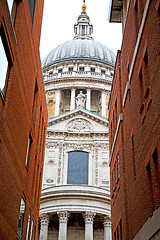
[[[67,130],[72,132],[90,132],[93,129],[90,122],[82,118],[76,118],[67,124]]]

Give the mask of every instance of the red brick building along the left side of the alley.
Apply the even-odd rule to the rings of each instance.
[[[0,239],[37,239],[47,108],[43,0],[0,1]]]

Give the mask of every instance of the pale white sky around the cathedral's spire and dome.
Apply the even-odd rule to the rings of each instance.
[[[92,37],[115,54],[121,49],[121,23],[109,23],[110,0],[86,0],[86,12],[93,24]],[[40,42],[41,61],[59,44],[72,40],[74,24],[82,11],[83,0],[45,0]]]

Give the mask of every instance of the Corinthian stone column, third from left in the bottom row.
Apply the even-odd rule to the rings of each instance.
[[[93,218],[96,213],[85,212],[83,217],[85,218],[85,240],[93,240]]]

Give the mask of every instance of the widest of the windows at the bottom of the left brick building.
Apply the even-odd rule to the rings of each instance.
[[[22,238],[24,213],[25,213],[25,202],[24,202],[23,198],[21,198],[19,220],[18,220],[18,230],[17,230],[17,239],[18,240],[21,240],[21,238]]]

